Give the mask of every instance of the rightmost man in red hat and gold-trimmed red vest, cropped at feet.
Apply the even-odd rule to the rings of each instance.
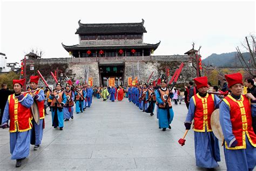
[[[242,75],[225,75],[231,95],[220,103],[220,125],[224,134],[227,170],[253,170],[256,165],[256,136],[252,127],[253,104],[242,95]]]

